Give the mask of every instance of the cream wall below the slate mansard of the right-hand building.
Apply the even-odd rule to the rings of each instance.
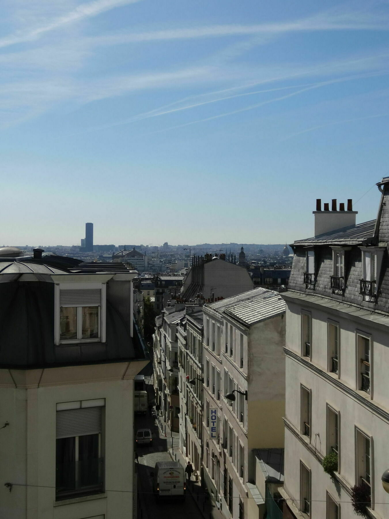
[[[301,355],[301,306],[287,303],[286,346]],[[312,315],[312,361],[304,365],[299,359],[286,357],[286,419],[297,433],[301,432],[300,386],[312,391],[311,446],[321,455],[327,454],[327,405],[339,412],[339,473],[349,487],[356,483],[355,436],[356,427],[371,436],[372,448],[372,501],[374,513],[387,517],[389,495],[381,484],[381,475],[389,467],[389,394],[387,373],[389,368],[389,340],[383,327],[374,325],[332,309],[304,306]],[[338,322],[340,329],[340,373],[327,371],[327,322]],[[371,395],[357,389],[359,357],[356,351],[356,331],[371,336],[372,392]],[[323,373],[323,375],[322,375]],[[337,383],[335,385],[335,382]],[[340,383],[340,384],[339,384]],[[372,402],[379,409],[368,404]],[[380,413],[380,408],[383,413]],[[386,418],[385,418],[386,414]],[[312,470],[312,516],[325,516],[326,491],[340,502],[342,519],[355,517],[348,493],[335,487],[323,471],[321,463],[305,447],[306,436],[301,443],[285,429],[285,489],[296,500],[300,496],[299,466],[302,460]]]

